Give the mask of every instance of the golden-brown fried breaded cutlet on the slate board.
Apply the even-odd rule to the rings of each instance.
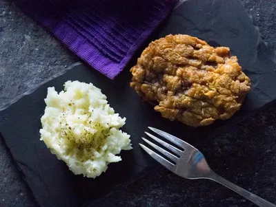
[[[230,118],[250,91],[228,47],[184,34],[150,43],[130,72],[130,86],[164,118],[193,127]]]

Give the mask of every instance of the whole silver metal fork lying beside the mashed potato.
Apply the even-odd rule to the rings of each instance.
[[[154,149],[156,149],[168,158],[168,160],[166,160],[164,157],[155,153],[144,144],[140,144],[140,146],[151,157],[153,157],[155,160],[157,160],[157,162],[168,168],[168,170],[172,171],[173,173],[181,177],[185,177],[188,179],[211,179],[215,182],[218,182],[219,184],[226,186],[227,188],[230,188],[236,193],[239,193],[239,195],[242,195],[246,199],[252,201],[257,206],[276,207],[274,204],[271,204],[265,199],[262,199],[261,197],[258,197],[257,195],[254,195],[253,193],[244,190],[244,188],[241,188],[214,173],[212,169],[208,166],[204,155],[194,146],[159,129],[155,129],[152,127],[148,128],[179,147],[178,149],[177,147],[172,146],[171,144],[168,144],[163,140],[160,140],[154,135],[145,132],[146,135],[155,140],[155,142],[158,142],[162,146],[165,146],[167,149],[169,149],[169,152],[157,146],[156,144],[146,140],[145,138],[142,138],[146,143],[148,143],[150,146],[152,146]],[[173,164],[173,162],[175,164]]]

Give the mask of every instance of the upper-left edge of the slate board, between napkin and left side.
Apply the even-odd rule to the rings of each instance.
[[[83,63],[81,63],[81,62],[74,63],[74,64],[70,65],[69,67],[67,67],[66,69],[63,69],[60,72],[58,72],[57,74],[55,74],[54,76],[52,76],[52,78],[48,78],[47,80],[44,80],[43,82],[39,83],[38,85],[35,85],[31,89],[28,89],[28,91],[26,91],[23,94],[17,96],[16,98],[12,99],[10,102],[2,105],[0,107],[0,112],[4,111],[8,107],[10,107],[10,105],[13,105],[15,102],[17,102],[19,99],[23,98],[24,96],[32,94],[32,92],[36,91],[39,87],[41,87],[41,85],[44,85],[44,84],[48,83],[50,80],[53,80],[53,79],[55,79],[59,76],[62,76],[63,74],[66,74],[66,72],[68,72],[70,69],[72,69],[73,67],[75,67],[77,65],[81,65],[81,64],[83,64]]]

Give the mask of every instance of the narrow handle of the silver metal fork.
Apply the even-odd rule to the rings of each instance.
[[[274,204],[271,204],[270,202],[266,201],[265,199],[262,199],[262,197],[259,197],[253,193],[248,192],[244,188],[241,188],[232,182],[229,182],[227,179],[224,179],[223,177],[217,175],[216,173],[212,173],[210,176],[206,177],[207,179],[211,179],[215,182],[218,182],[221,185],[226,186],[227,188],[235,191],[236,193],[239,193],[239,195],[242,195],[246,199],[252,201],[254,204],[260,207],[276,207]]]

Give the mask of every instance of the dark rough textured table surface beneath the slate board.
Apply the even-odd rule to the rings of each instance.
[[[275,0],[242,0],[264,41],[276,52]],[[11,1],[0,1],[0,106],[79,61]],[[276,92],[276,91],[275,91]],[[198,147],[226,179],[276,203],[276,106]],[[0,140],[0,206],[36,206]],[[105,206],[255,206],[207,180],[157,168]]]

